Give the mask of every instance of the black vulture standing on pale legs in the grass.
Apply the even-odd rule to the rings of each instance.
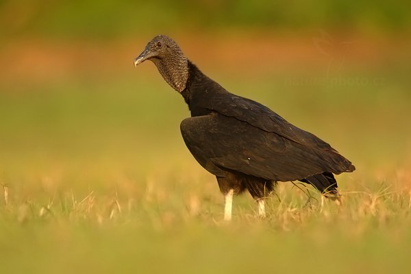
[[[265,215],[264,198],[277,182],[311,184],[325,197],[340,199],[333,174],[355,167],[327,142],[288,123],[266,106],[234,95],[203,74],[168,36],[151,40],[134,60],[150,60],[183,97],[191,117],[180,125],[184,142],[204,169],[216,176],[225,197],[249,190]]]

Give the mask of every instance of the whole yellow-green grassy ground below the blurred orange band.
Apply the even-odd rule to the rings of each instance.
[[[401,61],[347,65],[340,79],[367,81],[351,84],[330,83],[321,66],[243,77],[244,68],[205,64],[227,89],[357,167],[338,176],[342,206],[284,183],[266,219],[243,195],[227,224],[214,177],[179,134],[184,101],[152,64],[134,70],[131,60],[130,71],[112,75],[83,68],[2,79],[1,272],[408,273],[411,84]]]

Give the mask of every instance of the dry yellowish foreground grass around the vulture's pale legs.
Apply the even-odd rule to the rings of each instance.
[[[73,182],[52,195],[34,187],[30,197],[5,187],[2,267],[8,273],[317,273],[330,268],[336,273],[406,273],[409,185],[370,179],[359,185],[358,177],[343,176],[344,199],[338,206],[322,202],[311,188],[303,192],[279,184],[267,201],[265,219],[257,216],[251,197],[243,195],[234,199],[234,218],[227,223],[214,179],[197,175],[191,184],[186,180],[184,175],[169,181],[152,176],[132,192],[126,181],[108,192],[82,192]]]

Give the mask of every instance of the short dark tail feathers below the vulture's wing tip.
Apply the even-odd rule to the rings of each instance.
[[[312,184],[314,188],[319,190],[325,197],[332,200],[340,200],[340,194],[337,190],[337,181],[334,175],[329,172],[312,175],[301,179],[301,182]]]

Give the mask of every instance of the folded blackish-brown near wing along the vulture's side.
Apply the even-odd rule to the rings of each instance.
[[[326,149],[303,145],[237,116],[217,112],[195,116],[182,121],[181,130],[192,155],[217,176],[229,169],[264,179],[292,181],[323,172],[339,174],[351,166],[325,142],[320,145]]]

